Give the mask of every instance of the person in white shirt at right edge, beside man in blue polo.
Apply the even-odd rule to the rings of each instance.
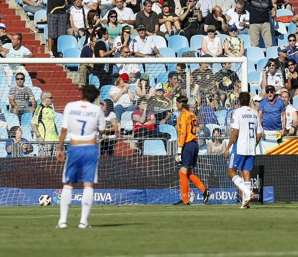
[[[298,109],[289,102],[291,97],[288,89],[282,88],[280,91],[280,95],[286,106],[286,135],[298,136]]]

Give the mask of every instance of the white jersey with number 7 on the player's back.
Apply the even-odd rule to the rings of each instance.
[[[86,141],[105,130],[101,106],[82,100],[70,102],[64,108],[62,127],[70,130],[71,139]]]

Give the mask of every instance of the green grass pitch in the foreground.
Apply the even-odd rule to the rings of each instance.
[[[1,257],[298,256],[298,203],[93,206],[91,229],[55,229],[57,206],[0,207]]]

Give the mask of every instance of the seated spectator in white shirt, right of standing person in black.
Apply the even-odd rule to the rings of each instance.
[[[81,38],[86,34],[86,20],[88,9],[82,5],[82,0],[75,0],[74,5],[70,9],[70,25],[69,35],[75,38]]]

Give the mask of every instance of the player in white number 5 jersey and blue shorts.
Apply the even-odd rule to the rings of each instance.
[[[249,93],[240,92],[239,103],[241,107],[234,112],[231,126],[233,131],[224,151],[224,157],[228,159],[229,149],[234,144],[228,160],[227,175],[245,194],[240,208],[247,208],[249,202],[255,198],[254,192],[251,191],[250,172],[253,169],[256,146],[262,136],[259,115],[249,107],[249,102]],[[237,175],[237,169],[242,171],[244,182]]]

